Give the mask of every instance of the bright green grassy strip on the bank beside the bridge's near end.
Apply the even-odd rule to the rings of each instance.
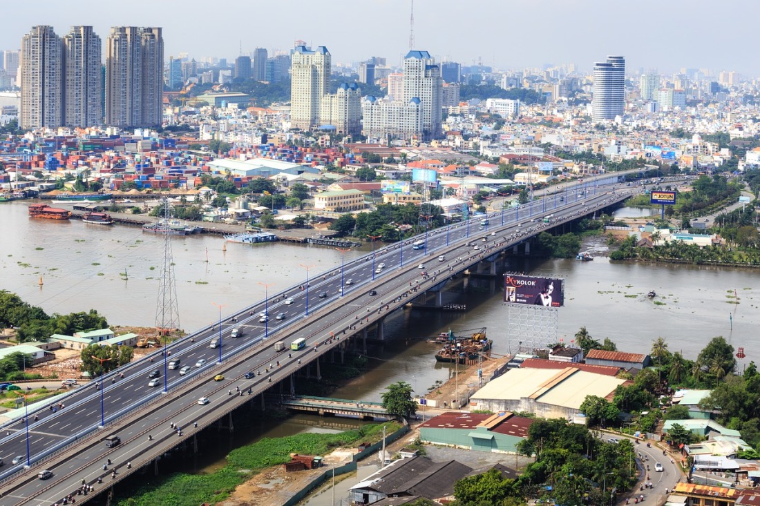
[[[355,446],[357,442],[378,441],[382,427],[388,434],[399,428],[394,422],[366,425],[361,429],[339,434],[299,434],[287,438],[264,438],[246,447],[237,448],[227,457],[227,465],[206,475],[173,473],[160,479],[157,486],[144,485],[131,491],[128,497],[117,498],[119,506],[197,506],[204,502],[215,504],[229,497],[237,485],[264,468],[290,462],[290,454],[324,455],[340,446]]]

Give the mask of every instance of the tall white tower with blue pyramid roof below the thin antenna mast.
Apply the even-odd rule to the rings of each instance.
[[[441,68],[427,51],[410,51],[404,57],[404,102],[420,99],[423,115],[423,139],[442,134],[443,79]]]

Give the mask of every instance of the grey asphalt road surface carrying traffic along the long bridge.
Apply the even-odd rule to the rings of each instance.
[[[603,207],[610,204],[611,198],[619,200],[624,197],[620,192],[613,196],[602,194],[601,191],[598,193],[594,196],[581,194],[580,191],[573,192],[568,196],[569,202],[565,201],[564,207],[560,209],[558,205],[557,210],[554,210],[554,220],[575,218],[590,212],[591,205]],[[546,212],[544,205],[551,204],[542,204],[542,213]],[[13,482],[3,483],[0,493],[21,503],[47,489],[39,495],[40,502],[36,504],[52,504],[72,487],[75,488],[81,479],[93,482],[97,476],[103,474],[100,466],[106,455],[122,465],[119,473],[128,473],[123,468],[125,460],[140,465],[154,458],[154,450],[160,450],[162,444],[169,444],[169,447],[176,444],[170,439],[167,441],[167,438],[176,435],[169,427],[169,422],[175,422],[184,428],[183,432],[187,437],[195,432],[195,428],[190,428],[193,422],[198,422],[199,430],[220,416],[215,410],[228,411],[245,402],[245,397],[230,394],[235,392],[236,388],[245,392],[244,396],[249,395],[249,388],[252,389],[252,394],[265,391],[271,386],[271,382],[287,378],[307,362],[312,362],[316,357],[328,353],[331,348],[340,346],[343,342],[340,340],[343,335],[341,333],[345,330],[350,328],[351,334],[363,325],[366,327],[361,320],[367,314],[372,318],[379,318],[378,315],[384,311],[384,305],[392,304],[397,307],[409,302],[418,295],[409,293],[409,286],[414,287],[418,282],[422,286],[435,283],[435,275],[431,276],[433,279],[423,279],[420,274],[423,270],[438,270],[445,265],[437,261],[438,255],[444,254],[448,258],[448,261],[445,261],[447,267],[456,273],[477,263],[484,255],[493,255],[508,245],[527,239],[539,229],[553,226],[535,223],[538,221],[536,215],[537,212],[534,210],[534,217],[530,217],[530,207],[511,210],[508,216],[505,216],[505,226],[501,226],[496,225],[501,219],[500,213],[497,213],[489,217],[495,224],[483,226],[480,231],[473,223],[467,222],[429,233],[426,239],[427,251],[425,248],[413,250],[413,240],[409,240],[404,242],[404,245],[397,244],[378,249],[374,256],[359,258],[345,265],[344,269],[334,269],[318,276],[309,273],[312,274],[309,283],[305,280],[301,286],[294,286],[287,292],[272,296],[267,301],[259,302],[234,316],[223,318],[221,324],[217,323],[215,327],[206,327],[173,343],[168,346],[166,356],[163,355],[163,351],[157,351],[150,359],[126,365],[119,372],[106,375],[103,378],[105,387],[102,389],[93,384],[75,389],[67,396],[56,400],[63,404],[62,408],[60,405],[51,405],[49,409],[30,413],[28,444],[31,463],[70,441],[72,436],[81,439],[93,431],[95,435],[90,439],[85,438],[85,442],[76,447],[70,457],[56,458],[57,464],[46,463],[55,473],[50,482],[27,478],[32,476],[31,473],[40,470],[40,466],[33,466],[33,471],[22,473],[21,479],[14,478]],[[515,220],[518,217],[519,219]],[[474,251],[467,243],[477,238],[485,241],[478,243],[480,249]],[[426,258],[427,266],[418,269],[416,265],[421,258]],[[459,260],[455,261],[457,258]],[[379,274],[375,274],[381,263],[385,264],[385,268]],[[442,277],[446,276],[447,274],[442,274]],[[346,286],[345,281],[349,277],[353,283]],[[375,283],[372,283],[373,277],[377,279]],[[376,289],[378,294],[370,296],[370,287]],[[326,296],[322,297],[322,294]],[[388,311],[392,309],[389,308]],[[263,311],[268,311],[268,321],[261,321],[260,314]],[[285,314],[284,319],[274,319],[274,315],[280,312]],[[309,325],[288,327],[291,322],[301,321],[307,312],[312,316],[309,318]],[[233,328],[239,330],[239,337],[230,337]],[[288,343],[290,340],[303,337],[307,341],[306,349],[298,352],[275,352],[271,342],[278,337],[286,336]],[[334,336],[334,342],[331,336]],[[211,348],[211,341],[219,338],[223,345]],[[264,340],[267,342],[262,343]],[[226,361],[238,353],[245,355],[223,364],[217,363],[220,354],[223,361]],[[167,367],[169,360],[178,358],[181,360],[180,366],[191,367],[188,374],[180,375],[179,368]],[[280,365],[277,365],[277,360],[280,361]],[[268,370],[269,365],[272,365],[271,370]],[[150,387],[147,376],[154,371],[158,372],[159,384]],[[254,378],[243,377],[245,372],[251,371],[258,374]],[[217,373],[223,374],[225,379],[211,381]],[[121,374],[124,378],[121,378]],[[100,384],[100,381],[97,383]],[[162,395],[164,389],[166,395]],[[198,405],[199,397],[209,397],[210,403],[206,406]],[[144,406],[147,401],[152,402],[150,408],[132,416],[128,423],[122,419],[117,425],[109,426],[106,430],[97,430],[101,413],[104,413],[107,425],[109,419],[124,416],[125,413]],[[31,419],[33,416],[37,416],[38,419],[34,421]],[[6,424],[3,429],[10,431],[11,435],[0,439],[0,457],[3,457],[6,463],[2,468],[3,475],[0,476],[8,476],[24,465],[12,465],[10,460],[15,455],[27,454],[25,420]],[[118,433],[124,441],[115,450],[109,450],[102,442],[103,438],[112,433]],[[151,441],[147,438],[149,433],[154,438]],[[0,501],[0,504],[15,503]]]

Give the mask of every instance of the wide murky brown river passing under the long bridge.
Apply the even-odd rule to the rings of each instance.
[[[17,293],[49,313],[96,308],[111,324],[154,325],[162,237],[131,226],[30,220],[24,202],[0,204],[0,237],[0,289]],[[340,253],[334,248],[227,243],[223,251],[224,244],[218,236],[171,238],[179,321],[186,330],[217,320],[218,309],[212,303],[224,305],[225,313],[232,312],[263,299],[262,283],[271,283],[270,290],[277,292],[303,283],[306,270],[299,264],[315,266],[309,271],[311,276],[340,265]],[[366,251],[349,251],[346,260]],[[592,337],[610,337],[621,351],[648,353],[652,340],[661,336],[671,351],[682,351],[693,359],[712,337],[722,335],[733,346],[745,348],[743,362],[755,359],[760,343],[758,270],[621,263],[606,257],[591,262],[515,258],[510,268],[565,280],[565,307],[559,309],[558,319],[558,338],[565,343],[584,325]],[[40,277],[43,286],[39,286]],[[654,300],[646,296],[651,289],[658,294]],[[733,303],[735,290],[738,304]],[[486,327],[494,340],[494,353],[515,351],[519,337],[508,336],[502,295],[488,280],[451,283],[444,301],[467,303],[467,312],[407,309],[391,315],[385,332],[389,343],[374,349],[371,367],[335,396],[379,400],[385,386],[398,380],[410,382],[422,394],[435,381],[449,378],[451,369],[433,359],[435,345],[407,345],[399,337],[430,336],[450,328],[464,334]],[[315,425],[318,420],[296,416],[287,425],[262,425],[223,446],[229,449],[262,435],[337,430]],[[209,456],[211,460],[192,467],[208,466],[223,457],[223,451],[220,448],[217,455]]]

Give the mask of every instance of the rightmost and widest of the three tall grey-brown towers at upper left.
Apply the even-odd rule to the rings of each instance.
[[[106,39],[106,125],[161,125],[163,36],[157,27],[113,27]]]

